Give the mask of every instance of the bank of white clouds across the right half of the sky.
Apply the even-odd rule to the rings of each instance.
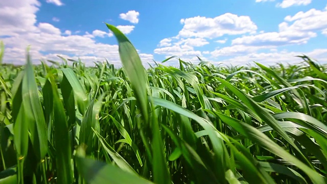
[[[268,0],[257,0],[256,2],[264,1]],[[293,1],[283,2],[292,3]],[[298,5],[307,5],[308,1],[296,1],[296,3]],[[175,37],[162,39],[158,44],[158,48],[154,50],[155,54],[165,55],[166,57],[177,55],[190,59],[196,55],[209,55],[209,60],[220,60],[222,58],[223,62],[232,63],[247,63],[253,60],[266,63],[284,60],[293,62],[299,61],[294,56],[302,53],[278,52],[278,48],[286,45],[306,44],[311,38],[316,37],[319,32],[327,35],[327,10],[311,9],[307,12],[300,11],[292,16],[288,15],[278,25],[278,31],[275,32],[260,31],[256,33],[258,28],[250,17],[229,13],[215,18],[197,16],[181,19],[181,24],[184,26],[179,34]],[[206,44],[214,44],[213,42],[225,44],[227,39],[221,39],[224,35],[242,36],[232,39],[230,45],[216,48],[213,51],[200,52],[195,49]],[[210,41],[213,38],[220,39]],[[190,41],[185,41],[188,39]],[[307,53],[307,55],[324,62],[327,58],[327,49],[316,49]],[[278,57],[280,58],[277,59]]]

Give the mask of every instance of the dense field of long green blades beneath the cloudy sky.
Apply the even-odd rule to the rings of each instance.
[[[122,68],[0,65],[0,183],[327,182],[327,65],[146,70],[107,27]]]

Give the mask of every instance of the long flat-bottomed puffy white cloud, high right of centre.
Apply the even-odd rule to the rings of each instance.
[[[191,17],[180,20],[183,28],[179,31],[181,37],[216,38],[228,35],[254,33],[256,25],[249,16],[238,16],[231,13],[209,18]]]

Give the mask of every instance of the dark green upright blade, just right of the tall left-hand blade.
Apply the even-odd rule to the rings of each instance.
[[[69,136],[68,123],[63,104],[59,99],[57,85],[54,78],[51,77],[52,94],[53,94],[53,110],[54,110],[54,140],[56,149],[56,165],[58,183],[72,183],[72,147]],[[51,92],[51,91],[49,91]]]

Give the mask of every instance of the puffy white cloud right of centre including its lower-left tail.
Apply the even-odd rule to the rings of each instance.
[[[154,50],[155,54],[194,58],[195,56],[202,56],[201,51],[195,48],[209,44],[208,40],[212,38],[223,35],[255,33],[257,29],[250,17],[231,13],[225,13],[214,18],[201,16],[185,18],[181,19],[180,22],[183,24],[182,30],[177,36],[162,39],[158,44],[159,48]],[[216,40],[219,43],[226,41],[227,39]]]

